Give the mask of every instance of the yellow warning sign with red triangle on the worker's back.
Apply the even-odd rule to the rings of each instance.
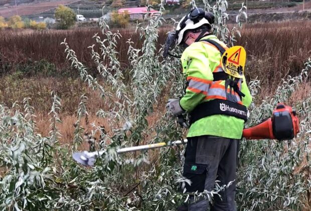
[[[225,51],[221,57],[224,71],[236,78],[242,78],[246,62],[246,51],[242,46],[233,46]]]

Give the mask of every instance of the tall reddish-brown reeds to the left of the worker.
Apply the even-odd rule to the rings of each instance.
[[[60,45],[66,38],[70,47],[76,52],[78,59],[88,67],[96,69],[88,49],[88,46],[95,43],[92,37],[96,33],[101,33],[98,28],[27,31],[27,33],[20,30],[0,31],[0,66],[1,63],[9,63],[10,69],[16,71],[18,64],[25,63],[29,59],[32,61],[45,59],[55,64],[61,71],[63,68],[69,67],[64,54],[64,46]],[[165,33],[166,31],[160,33],[158,48],[160,48],[160,44],[165,42]],[[122,38],[118,42],[117,51],[122,66],[126,67],[128,64],[126,41],[131,39],[135,43],[134,46],[139,47],[142,40],[137,36],[134,29],[121,29],[121,34]]]

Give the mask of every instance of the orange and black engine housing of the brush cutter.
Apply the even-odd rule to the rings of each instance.
[[[299,133],[299,120],[296,111],[291,107],[278,103],[272,118],[243,130],[246,139],[290,140]]]

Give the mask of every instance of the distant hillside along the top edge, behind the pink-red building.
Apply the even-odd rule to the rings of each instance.
[[[94,2],[87,0],[18,0],[16,7],[15,0],[0,0],[0,16],[8,18],[10,16],[18,14],[20,16],[31,16],[30,18],[36,19],[36,15],[40,13],[40,16],[51,17],[54,14],[52,9],[56,8],[59,4],[63,4],[70,5],[73,10],[79,12],[87,18],[98,18],[98,16],[101,16],[101,8],[103,2],[105,1]],[[228,8],[228,10],[236,11],[241,7],[242,2],[244,1],[228,2],[230,3],[230,7]],[[211,4],[213,4],[213,2]],[[122,5],[122,7],[138,7],[140,5],[140,1],[125,1],[124,3],[122,3]],[[297,2],[297,0],[291,0],[288,2],[248,1],[247,7],[249,14],[280,13],[302,10],[301,2]],[[305,9],[310,8],[311,2],[307,2],[305,4]],[[113,8],[111,7],[111,5],[107,5],[106,9],[111,10]],[[170,15],[179,15],[185,13],[188,9],[183,8],[182,6],[173,6],[168,7],[168,10],[170,11]]]

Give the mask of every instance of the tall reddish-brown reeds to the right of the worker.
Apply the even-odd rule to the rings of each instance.
[[[246,76],[264,86],[277,87],[286,75],[297,75],[310,57],[311,22],[247,25],[238,43],[248,54]]]

